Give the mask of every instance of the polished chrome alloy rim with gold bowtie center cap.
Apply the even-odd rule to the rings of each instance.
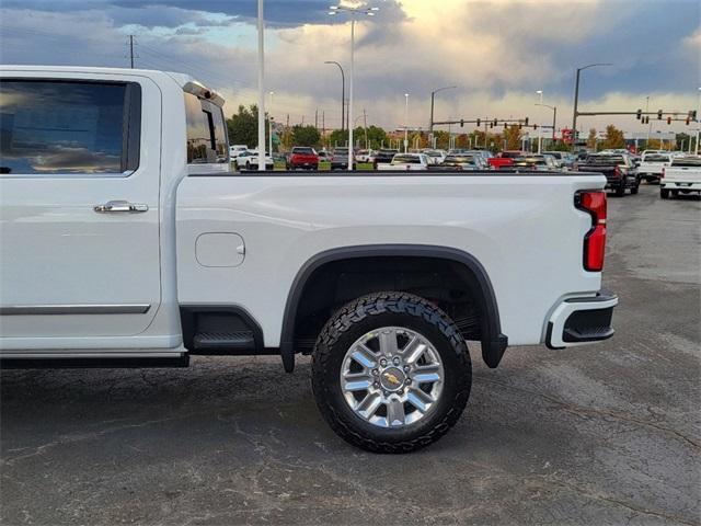
[[[380,427],[402,427],[436,407],[444,386],[440,355],[422,334],[383,327],[350,345],[341,389],[353,412]]]

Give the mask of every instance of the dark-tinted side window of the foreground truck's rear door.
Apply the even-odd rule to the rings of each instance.
[[[0,81],[0,174],[116,174],[139,159],[140,87]]]

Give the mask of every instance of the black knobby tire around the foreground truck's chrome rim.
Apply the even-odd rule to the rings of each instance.
[[[402,327],[426,338],[444,364],[444,386],[430,413],[400,428],[380,427],[355,414],[343,398],[340,373],[347,350],[381,327]],[[458,327],[439,308],[406,293],[378,293],[341,308],[322,329],[312,358],[312,390],[331,428],[349,444],[374,453],[409,453],[436,442],[462,413],[472,365]]]

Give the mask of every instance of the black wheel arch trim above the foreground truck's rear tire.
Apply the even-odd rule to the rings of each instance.
[[[338,247],[320,252],[310,258],[299,270],[287,296],[283,328],[280,333],[280,355],[287,371],[295,366],[295,331],[300,300],[307,285],[324,265],[345,260],[372,258],[425,258],[459,264],[470,276],[475,300],[484,316],[481,324],[482,357],[489,367],[496,367],[508,345],[508,339],[502,334],[498,305],[489,274],[480,261],[472,254],[451,247],[427,244],[368,244]]]

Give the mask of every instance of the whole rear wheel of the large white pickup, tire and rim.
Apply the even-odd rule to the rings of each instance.
[[[417,296],[379,293],[347,304],[313,353],[312,388],[333,431],[354,446],[405,453],[440,438],[470,396],[462,335]]]

